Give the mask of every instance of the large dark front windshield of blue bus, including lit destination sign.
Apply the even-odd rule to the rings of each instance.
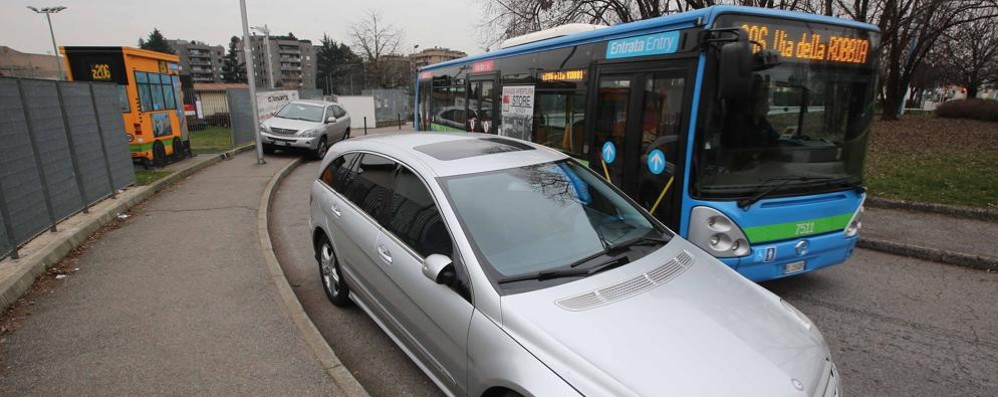
[[[753,72],[741,100],[705,94],[695,187],[708,198],[859,186],[876,83],[875,34],[804,22],[725,16],[781,63]],[[847,48],[848,47],[848,48]],[[713,62],[717,62],[715,59]]]

